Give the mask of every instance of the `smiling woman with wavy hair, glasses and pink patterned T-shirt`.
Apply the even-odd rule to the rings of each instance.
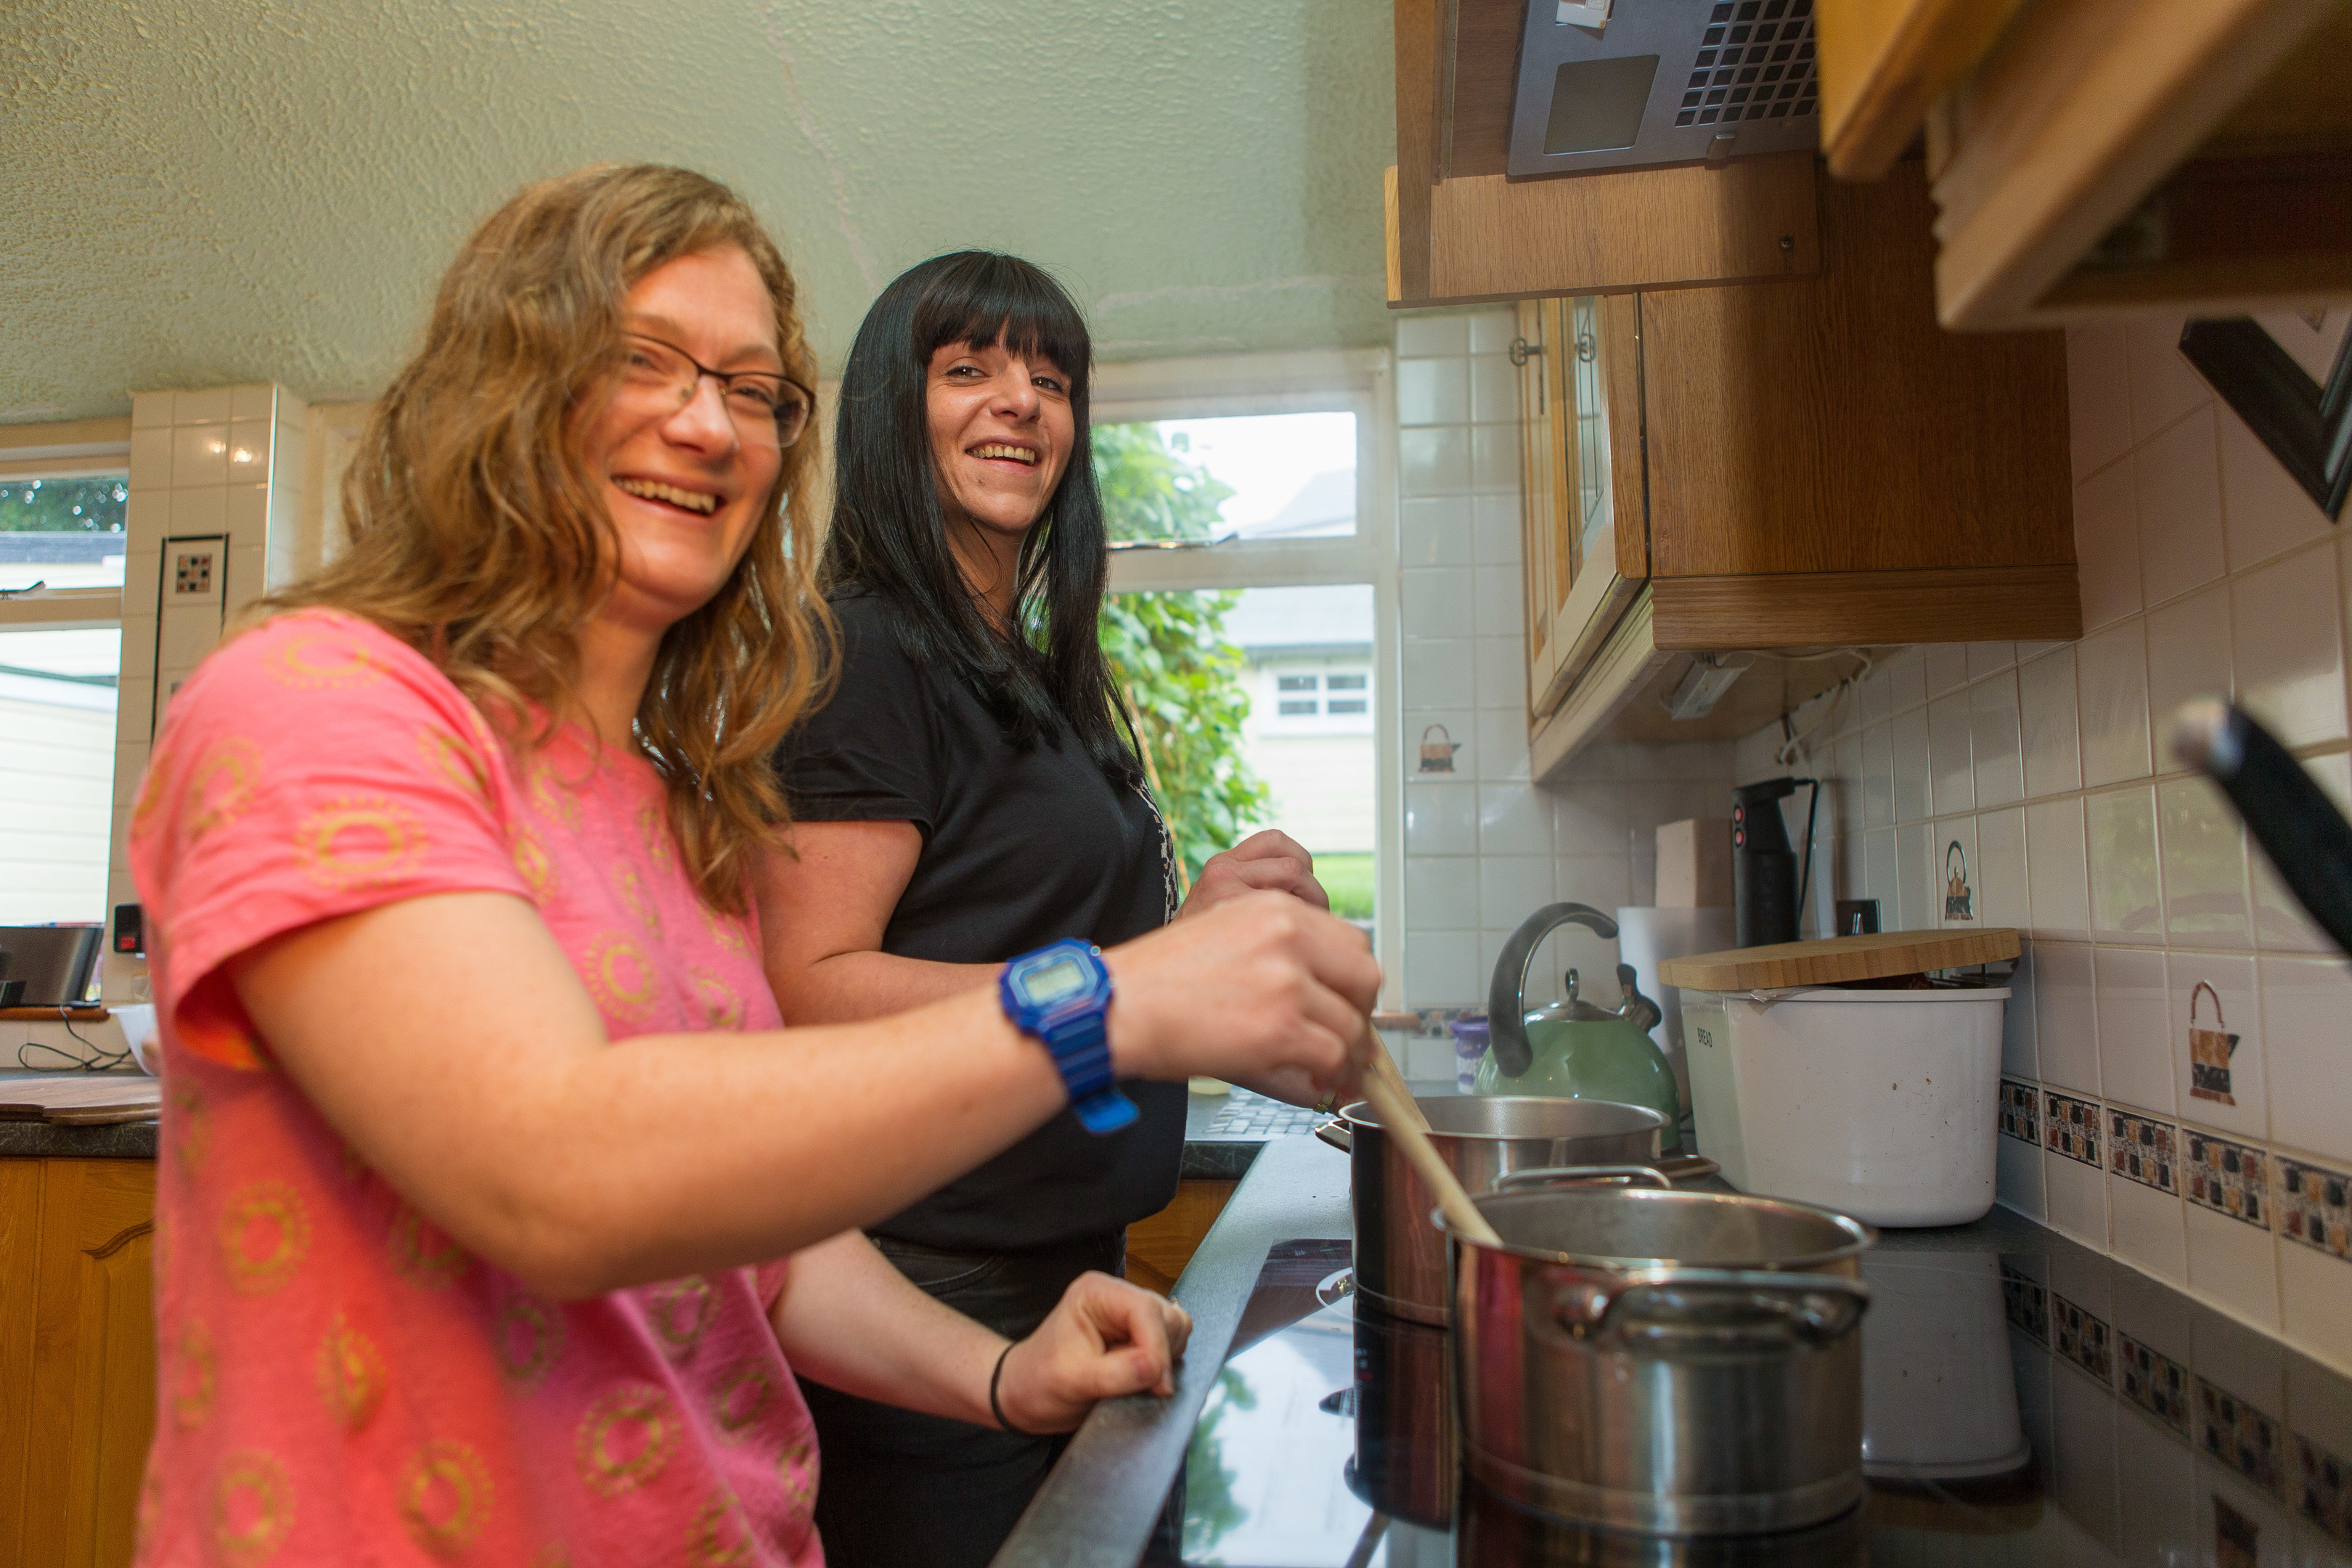
[[[172,701],[141,1561],[816,1563],[795,1366],[1028,1432],[1171,1387],[1152,1295],[1094,1274],[1007,1342],[854,1229],[1068,1103],[1011,1001],[779,1030],[748,870],[821,684],[811,381],[727,188],[532,186],[381,400],[343,555]],[[1101,964],[1120,1077],[1336,1081],[1378,983],[1272,896]]]

